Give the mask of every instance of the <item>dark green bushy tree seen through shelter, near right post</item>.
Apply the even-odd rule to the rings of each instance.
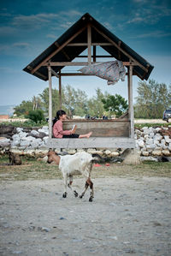
[[[107,98],[102,98],[104,110],[110,111],[110,114],[115,114],[116,117],[121,116],[128,107],[127,100],[121,95],[108,95]]]

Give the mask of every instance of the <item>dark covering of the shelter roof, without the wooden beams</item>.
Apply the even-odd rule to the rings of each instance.
[[[42,63],[46,57],[49,57],[51,53],[56,51],[57,46],[56,45],[62,45],[64,44],[68,39],[70,39],[75,33],[77,33],[82,27],[86,27],[87,24],[91,24],[91,41],[92,43],[109,43],[109,40],[106,39],[103,35],[107,36],[109,39],[111,39],[115,44],[121,45],[121,49],[138,63],[140,63],[144,68],[147,68],[146,71],[144,71],[144,68],[139,66],[133,66],[133,72],[134,74],[137,74],[140,79],[147,80],[150,76],[150,73],[152,69],[154,68],[150,63],[148,63],[143,57],[141,57],[137,52],[133,51],[128,45],[126,45],[124,42],[121,41],[121,39],[118,39],[113,33],[109,32],[109,30],[106,27],[103,27],[102,24],[100,24],[98,21],[96,21],[91,15],[88,13],[83,15],[79,21],[76,21],[72,27],[69,27],[68,30],[62,34],[62,36],[59,39],[56,39],[56,41],[50,45],[45,51],[43,51],[38,57],[36,57],[32,63],[28,64],[26,68],[23,70],[26,71],[29,74],[32,74],[31,71],[33,68],[36,68],[39,63]],[[97,30],[94,28],[96,27]],[[99,33],[101,32],[101,33]],[[103,35],[102,35],[103,33]],[[87,42],[87,29],[84,29],[82,33],[80,33],[76,38],[74,38],[70,43],[86,43]],[[112,57],[115,57],[115,59],[121,60],[122,62],[129,62],[129,57],[127,57],[124,53],[121,51],[118,51],[118,49],[115,47],[115,45],[105,45],[101,46],[105,51],[108,51],[109,54]],[[75,57],[78,57],[81,52],[85,51],[87,46],[72,46],[68,47],[65,46],[62,51],[59,51],[56,53],[54,57],[50,58],[51,62],[71,62],[74,60]],[[63,53],[65,51],[65,54]],[[69,60],[68,60],[69,57]],[[53,67],[53,69],[56,71],[56,73],[61,70],[62,67]],[[38,78],[42,80],[48,80],[48,68],[41,66],[38,68],[38,70],[33,73],[33,75],[37,76]]]

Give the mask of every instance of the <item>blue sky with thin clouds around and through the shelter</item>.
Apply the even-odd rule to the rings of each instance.
[[[155,67],[150,79],[171,84],[170,0],[1,0],[0,105],[21,104],[44,91],[48,81],[22,69],[87,12]],[[133,76],[133,102],[139,81]],[[98,87],[127,98],[127,79],[107,86],[106,80],[94,76],[62,77],[62,86],[67,85],[84,90],[88,97]],[[55,78],[53,87],[57,86]]]

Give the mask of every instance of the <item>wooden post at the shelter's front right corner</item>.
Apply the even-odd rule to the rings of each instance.
[[[133,66],[128,67],[128,114],[130,120],[130,138],[134,138],[134,116],[133,116]]]

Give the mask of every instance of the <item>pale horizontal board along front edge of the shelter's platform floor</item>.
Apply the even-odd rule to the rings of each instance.
[[[134,148],[132,138],[49,139],[48,148]]]

